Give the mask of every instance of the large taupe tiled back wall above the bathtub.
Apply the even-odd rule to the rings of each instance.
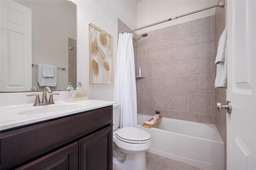
[[[214,16],[147,34],[137,49],[146,77],[137,79],[138,113],[214,124]]]

